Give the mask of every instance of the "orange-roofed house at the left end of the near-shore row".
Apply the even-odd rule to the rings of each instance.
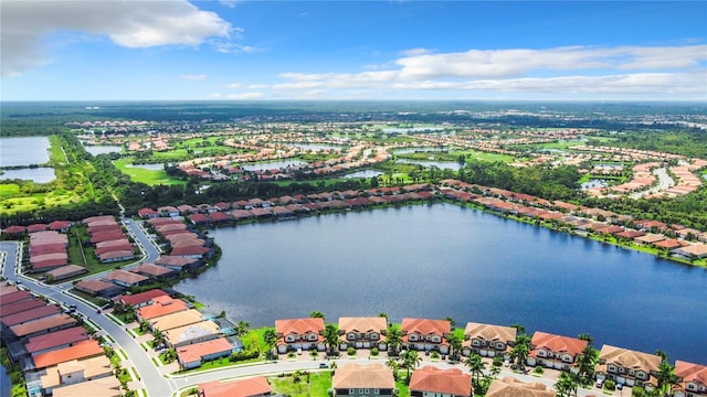
[[[275,320],[277,333],[277,353],[297,350],[318,350],[324,352],[324,319]]]

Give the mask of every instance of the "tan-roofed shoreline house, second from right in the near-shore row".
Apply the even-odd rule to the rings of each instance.
[[[598,379],[612,379],[616,384],[652,389],[657,386],[655,375],[659,364],[661,357],[657,355],[603,345],[595,373]]]

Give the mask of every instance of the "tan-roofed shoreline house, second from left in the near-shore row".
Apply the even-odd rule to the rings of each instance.
[[[339,348],[345,351],[349,346],[356,348],[378,347],[386,351],[386,318],[340,318],[339,334],[341,343]]]

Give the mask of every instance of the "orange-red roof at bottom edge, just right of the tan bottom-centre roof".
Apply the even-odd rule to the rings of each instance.
[[[440,393],[452,396],[472,395],[472,376],[460,368],[437,369],[424,366],[412,373],[410,391]]]

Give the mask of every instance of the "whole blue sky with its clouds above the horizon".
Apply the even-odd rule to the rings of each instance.
[[[2,100],[707,100],[705,1],[0,8]]]

